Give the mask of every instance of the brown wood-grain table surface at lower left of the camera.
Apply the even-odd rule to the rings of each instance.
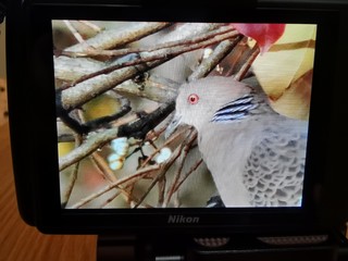
[[[97,236],[42,235],[16,207],[9,124],[0,124],[0,261],[96,260]]]

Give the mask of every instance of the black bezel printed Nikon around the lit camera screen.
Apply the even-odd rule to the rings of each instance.
[[[175,12],[176,11],[176,12]],[[312,85],[311,115],[309,123],[308,163],[303,185],[301,208],[250,208],[250,209],[154,209],[154,210],[66,210],[60,204],[60,183],[58,175],[58,149],[54,105],[54,77],[52,61],[51,20],[117,20],[117,21],[181,21],[181,22],[229,22],[226,8],[194,7],[112,7],[112,5],[63,5],[37,4],[27,9],[27,69],[28,83],[34,87],[29,99],[40,94],[40,102],[30,108],[32,135],[41,135],[35,139],[32,186],[36,200],[36,225],[44,232],[103,233],[112,231],[139,232],[159,228],[176,233],[199,232],[202,228],[226,233],[272,229],[308,229],[315,223],[315,187],[321,184],[325,171],[325,158],[321,154],[323,140],[327,137],[327,126],[321,125],[330,117],[330,108],[325,98],[330,96],[330,77],[333,75],[333,57],[325,50],[334,48],[335,30],[338,27],[334,11],[296,9],[243,9],[234,16],[236,22],[253,23],[308,23],[318,24],[314,75]],[[117,17],[115,16],[117,13]],[[191,15],[191,14],[195,15]],[[264,20],[264,17],[268,17]],[[233,22],[233,21],[232,21]],[[326,88],[325,88],[326,87]],[[37,98],[36,98],[37,99]],[[47,110],[42,111],[41,108]],[[37,112],[40,116],[36,116]],[[46,129],[42,132],[42,126]],[[315,129],[315,132],[313,132]],[[28,136],[30,137],[30,136]],[[48,142],[49,140],[49,142]],[[321,141],[321,142],[319,142]],[[30,142],[34,142],[33,140]],[[51,153],[40,152],[46,147]],[[35,156],[40,156],[37,159]],[[44,163],[39,162],[42,161]],[[318,163],[321,164],[318,164]],[[198,224],[167,224],[170,214],[199,216]],[[101,225],[102,224],[102,225]]]

